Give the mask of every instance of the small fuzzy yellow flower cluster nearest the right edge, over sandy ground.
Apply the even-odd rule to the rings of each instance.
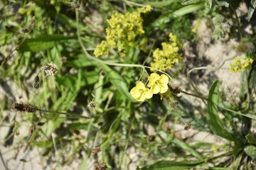
[[[243,72],[245,69],[250,68],[253,60],[251,58],[246,57],[245,55],[240,56],[239,58],[235,58],[234,62],[230,64],[230,72]]]

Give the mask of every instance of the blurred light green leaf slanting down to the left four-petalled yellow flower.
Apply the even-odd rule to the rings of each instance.
[[[117,90],[124,96],[126,96],[129,101],[137,102],[131,94],[129,94],[129,90],[127,88],[127,83],[124,81],[124,79],[117,73],[114,72],[113,69],[108,67],[106,64],[99,63],[104,72],[106,73],[106,76],[108,79],[110,79],[110,82],[117,88]]]

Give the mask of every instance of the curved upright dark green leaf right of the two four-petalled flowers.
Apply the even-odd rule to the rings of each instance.
[[[223,126],[223,122],[220,120],[218,115],[218,80],[214,81],[212,86],[210,87],[209,95],[208,95],[208,104],[207,104],[208,114],[206,116],[208,125],[210,129],[216,135],[220,137],[224,137],[227,140],[235,141],[235,138],[230,135],[230,132],[225,129]]]

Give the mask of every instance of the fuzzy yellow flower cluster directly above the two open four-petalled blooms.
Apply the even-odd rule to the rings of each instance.
[[[170,42],[161,43],[163,50],[159,50],[159,48],[154,50],[154,60],[151,62],[151,67],[166,71],[166,69],[171,69],[175,62],[179,62],[182,59],[182,55],[178,54],[176,36],[170,33],[169,38]]]

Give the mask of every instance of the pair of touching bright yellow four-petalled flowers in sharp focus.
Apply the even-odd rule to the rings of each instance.
[[[169,78],[162,74],[161,76],[156,73],[150,74],[149,83],[146,88],[142,81],[139,81],[134,88],[131,89],[130,94],[137,101],[145,101],[146,98],[151,98],[153,94],[164,94],[168,91]]]

